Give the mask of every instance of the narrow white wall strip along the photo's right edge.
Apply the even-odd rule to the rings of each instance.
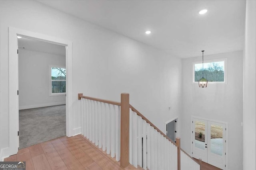
[[[244,48],[244,170],[256,169],[256,2],[246,1]]]

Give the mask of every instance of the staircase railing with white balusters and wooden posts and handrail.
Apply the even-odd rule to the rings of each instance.
[[[132,164],[149,170],[200,170],[200,164],[129,103],[78,94],[82,111],[82,135],[102,148],[125,168]],[[181,166],[182,164],[182,166]]]

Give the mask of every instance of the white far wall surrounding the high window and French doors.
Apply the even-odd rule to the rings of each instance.
[[[208,84],[207,88],[192,84],[192,62],[202,61],[202,57],[182,59],[181,122],[186,126],[181,127],[181,147],[192,152],[192,115],[228,122],[228,169],[242,170],[243,52],[204,56],[204,60],[221,58],[228,59],[228,84]]]

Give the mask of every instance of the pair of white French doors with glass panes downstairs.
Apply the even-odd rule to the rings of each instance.
[[[192,125],[192,156],[224,170],[226,124],[193,118]]]

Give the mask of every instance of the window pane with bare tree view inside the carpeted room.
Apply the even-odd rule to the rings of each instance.
[[[51,67],[52,94],[66,93],[66,68]]]

